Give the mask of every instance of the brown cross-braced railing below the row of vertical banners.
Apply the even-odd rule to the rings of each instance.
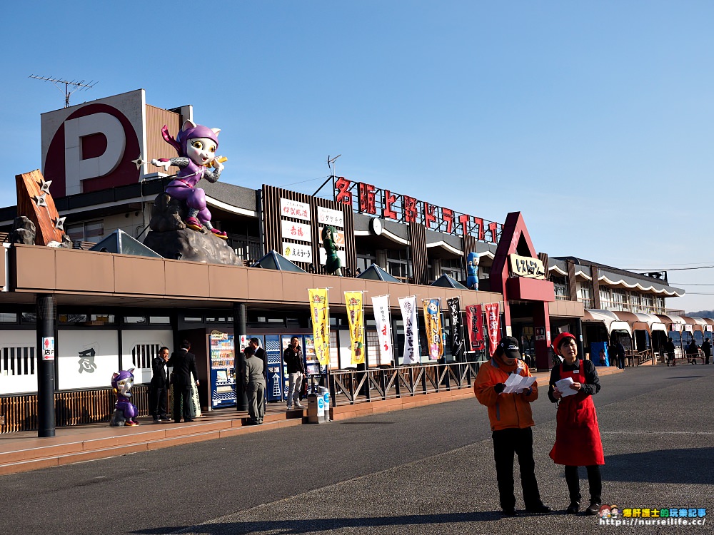
[[[479,362],[449,362],[329,374],[333,407],[473,387]]]

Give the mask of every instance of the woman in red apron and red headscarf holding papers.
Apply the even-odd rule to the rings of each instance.
[[[588,469],[590,506],[585,509],[585,514],[598,514],[600,494],[603,491],[600,464],[605,464],[605,456],[593,394],[600,391],[600,379],[592,361],[578,359],[578,345],[570,332],[560,333],[555,338],[553,347],[555,352],[563,357],[563,362],[550,370],[548,397],[553,403],[558,403],[555,445],[550,450],[550,458],[556,464],[565,465],[565,481],[570,493],[568,514],[577,514],[580,511],[578,467]],[[575,390],[576,393],[563,396],[565,389],[559,390],[555,383],[568,377],[573,379],[573,384],[565,388]]]

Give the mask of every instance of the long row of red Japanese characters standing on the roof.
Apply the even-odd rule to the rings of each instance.
[[[456,213],[409,195],[381,190],[371,184],[347,180],[335,181],[335,202],[346,204],[359,213],[378,215],[402,223],[422,223],[426,228],[455,235],[472,235],[479,241],[497,243],[502,226],[493,221]]]

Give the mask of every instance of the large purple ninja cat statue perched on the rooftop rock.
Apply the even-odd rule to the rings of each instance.
[[[218,128],[207,128],[193,121],[186,121],[174,139],[169,134],[169,128],[164,125],[164,128],[161,128],[161,136],[164,136],[166,143],[176,149],[178,158],[154,159],[151,163],[156,167],[163,167],[167,173],[171,165],[179,168],[176,178],[166,186],[166,193],[186,203],[188,207],[186,226],[197,231],[206,227],[218,238],[227,240],[226,233],[211,225],[211,212],[206,208],[206,194],[201,188],[196,188],[201,178],[206,178],[208,182],[213,183],[221,176],[223,170],[221,161],[226,161],[226,158],[216,157],[218,132],[220,132]],[[213,170],[208,169],[211,166]]]

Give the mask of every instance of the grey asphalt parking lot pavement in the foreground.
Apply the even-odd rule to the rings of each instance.
[[[714,365],[602,383],[605,501],[714,515]],[[4,476],[0,533],[714,533],[714,516],[685,529],[562,514],[563,472],[548,457],[555,410],[545,395],[533,408],[547,516],[501,519],[486,409],[467,399]]]

